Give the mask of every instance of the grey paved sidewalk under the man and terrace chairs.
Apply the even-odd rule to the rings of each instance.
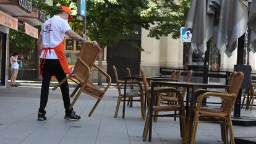
[[[70,89],[72,91],[74,89]],[[145,121],[141,118],[139,103],[126,108],[126,119],[122,119],[122,104],[114,119],[117,90],[111,89],[96,108],[92,117],[89,111],[96,102],[93,98],[81,95],[74,106],[82,116],[80,121],[65,121],[64,106],[60,91],[50,90],[46,106],[47,121],[36,121],[39,107],[40,88],[0,88],[0,143],[4,144],[167,144],[182,143],[179,137],[179,121],[171,117],[160,117],[153,123],[152,142],[142,141]],[[243,116],[256,117],[255,109],[242,110]],[[217,144],[221,142],[220,126],[199,124],[196,143]],[[256,127],[234,126],[236,137],[256,135]]]

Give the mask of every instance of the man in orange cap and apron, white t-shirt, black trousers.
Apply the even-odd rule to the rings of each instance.
[[[36,42],[36,46],[40,54],[40,74],[43,77],[40,96],[40,108],[38,110],[38,121],[46,120],[45,107],[49,95],[49,83],[52,75],[55,75],[58,82],[61,82],[66,75],[69,74],[69,66],[66,56],[64,55],[64,38],[68,35],[76,41],[83,41],[81,36],[73,32],[70,28],[68,20],[72,20],[71,11],[68,7],[62,6],[58,10],[58,14],[46,20],[41,26],[40,36]],[[98,45],[96,41],[94,45]],[[64,101],[65,116],[64,119],[80,119],[81,117],[75,114],[75,111],[69,109],[69,85],[66,82],[61,85],[61,93]]]

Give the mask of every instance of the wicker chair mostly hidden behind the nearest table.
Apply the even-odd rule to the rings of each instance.
[[[190,82],[190,80],[192,78],[192,73],[193,73],[193,70],[190,70],[187,73],[186,82]],[[181,95],[182,95],[183,99],[186,96],[186,92],[187,92],[187,88],[181,88]],[[175,93],[171,93],[171,95],[159,95],[157,105],[160,106],[161,101],[167,101],[168,104],[177,104],[178,98],[174,94]],[[176,114],[176,111],[174,111],[174,114]],[[157,121],[158,121],[158,117],[154,117],[154,122],[157,122]],[[175,116],[174,116],[174,121],[176,121]]]

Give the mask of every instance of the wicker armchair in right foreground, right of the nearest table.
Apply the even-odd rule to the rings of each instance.
[[[231,112],[233,110],[234,103],[236,101],[237,94],[241,87],[242,81],[244,79],[244,74],[242,72],[233,72],[231,74],[229,89],[223,93],[214,92],[207,90],[197,90],[195,91],[195,96],[197,96],[197,106],[195,106],[194,124],[192,129],[192,135],[190,138],[190,144],[195,143],[195,134],[197,131],[198,122],[210,122],[217,123],[221,125],[221,138],[224,143],[228,143],[228,130],[229,137],[231,139],[231,144],[234,144],[234,134],[233,134],[233,124],[231,120]],[[207,96],[215,96],[221,98],[221,108],[202,108],[202,101]]]

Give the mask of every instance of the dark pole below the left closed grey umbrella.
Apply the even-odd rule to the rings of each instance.
[[[208,83],[210,48],[211,48],[211,39],[207,41],[207,51],[205,51],[205,59],[203,64],[203,83]],[[206,106],[206,104],[207,104],[207,98],[203,99],[202,106]]]

